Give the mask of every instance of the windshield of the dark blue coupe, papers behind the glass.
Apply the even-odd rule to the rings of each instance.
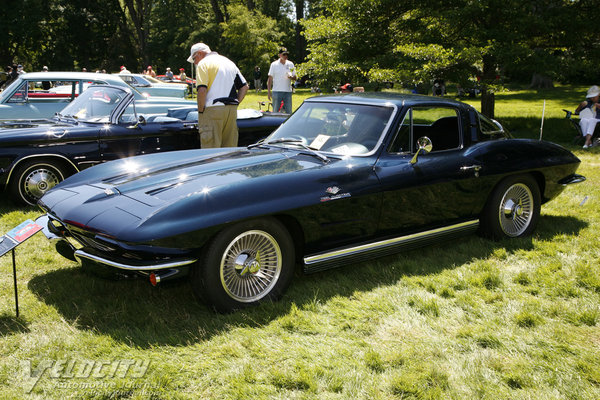
[[[341,155],[368,154],[382,139],[392,107],[305,102],[264,143],[308,146]]]

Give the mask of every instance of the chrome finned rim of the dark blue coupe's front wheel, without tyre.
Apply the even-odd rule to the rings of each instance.
[[[247,231],[231,241],[221,259],[221,283],[227,294],[249,303],[268,295],[279,279],[279,244],[267,232]]]

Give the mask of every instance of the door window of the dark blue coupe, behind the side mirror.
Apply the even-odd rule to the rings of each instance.
[[[427,106],[413,107],[411,111],[413,152],[421,137],[431,140],[434,152],[461,147],[460,118],[456,109]]]

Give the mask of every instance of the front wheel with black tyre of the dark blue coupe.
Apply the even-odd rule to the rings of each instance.
[[[294,243],[274,218],[235,224],[207,245],[192,272],[195,293],[219,312],[276,300],[294,274]]]

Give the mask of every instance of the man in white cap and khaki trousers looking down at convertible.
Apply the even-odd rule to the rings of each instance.
[[[193,62],[197,71],[200,146],[236,147],[237,107],[246,96],[248,83],[233,61],[204,43],[192,46],[188,62]]]

